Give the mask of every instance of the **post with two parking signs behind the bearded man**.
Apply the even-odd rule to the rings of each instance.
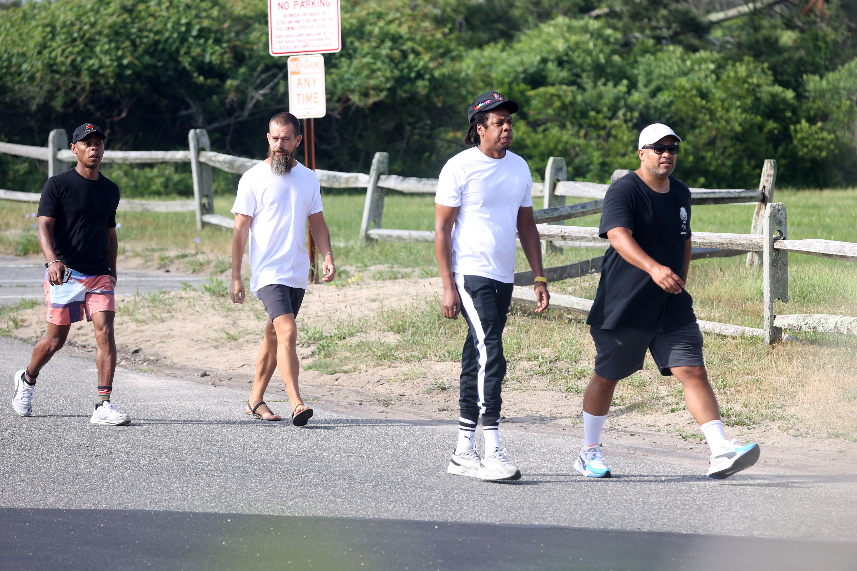
[[[312,170],[315,170],[315,117],[327,114],[324,56],[321,54],[341,49],[339,0],[268,0],[268,51],[272,56],[291,56],[289,112],[303,119],[303,162]],[[309,224],[307,243],[309,280],[318,283],[315,241]]]

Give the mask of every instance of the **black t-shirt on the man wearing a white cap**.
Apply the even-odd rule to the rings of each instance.
[[[634,240],[658,264],[684,278],[685,242],[691,237],[691,191],[669,177],[669,192],[656,193],[631,172],[608,188],[598,235],[631,229]],[[632,327],[669,331],[696,321],[691,294],[670,294],[613,247],[604,254],[601,281],[587,324],[602,329]]]

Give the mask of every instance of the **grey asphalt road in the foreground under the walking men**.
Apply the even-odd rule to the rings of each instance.
[[[7,390],[29,352],[0,338]],[[120,370],[114,401],[134,422],[96,426],[95,386],[93,361],[57,354],[39,377],[36,416],[0,406],[0,568],[857,562],[854,475],[714,481],[704,456],[693,470],[617,454],[614,479],[584,479],[572,470],[576,438],[504,426],[524,477],[493,484],[446,474],[455,425],[358,418],[315,401],[300,429],[243,414],[241,390]]]

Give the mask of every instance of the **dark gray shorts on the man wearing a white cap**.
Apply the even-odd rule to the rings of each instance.
[[[595,358],[596,375],[611,381],[620,381],[643,368],[645,351],[664,377],[673,373],[674,366],[705,366],[702,357],[702,332],[694,321],[671,331],[643,331],[631,327],[590,330],[598,354]]]

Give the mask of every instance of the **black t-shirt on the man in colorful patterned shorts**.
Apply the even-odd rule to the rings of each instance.
[[[74,169],[51,176],[42,189],[39,216],[56,218],[54,251],[72,270],[111,273],[107,229],[116,228],[119,187],[105,175],[90,181]],[[49,260],[50,261],[50,260]]]

